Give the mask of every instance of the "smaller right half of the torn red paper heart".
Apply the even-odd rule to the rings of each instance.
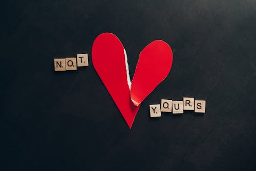
[[[162,40],[155,40],[141,52],[131,86],[131,99],[139,105],[166,78],[173,63],[173,52]]]

